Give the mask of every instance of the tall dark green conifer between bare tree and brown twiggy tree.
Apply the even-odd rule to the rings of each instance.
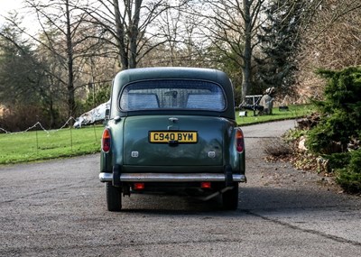
[[[267,19],[258,34],[261,56],[255,58],[257,78],[264,89],[275,87],[283,95],[290,94],[297,70],[303,8],[303,1],[280,0],[273,0],[264,7]]]

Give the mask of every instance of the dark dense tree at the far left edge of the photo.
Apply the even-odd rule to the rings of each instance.
[[[46,117],[49,123],[44,124],[52,127],[58,117],[58,110],[54,107],[58,90],[49,87],[45,72],[47,63],[38,58],[32,43],[23,40],[21,31],[14,26],[20,21],[16,16],[9,19],[13,22],[5,25],[0,32],[0,102],[9,106],[12,119],[16,116],[21,121],[14,129],[25,129],[36,122],[29,117],[30,109],[33,115]],[[9,121],[6,120],[6,123],[9,124]]]

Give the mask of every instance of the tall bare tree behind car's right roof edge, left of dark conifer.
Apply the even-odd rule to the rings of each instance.
[[[256,33],[262,23],[264,0],[204,2],[208,6],[207,12],[199,14],[207,18],[204,35],[242,70],[242,98],[245,99],[252,88],[253,50],[258,43]]]

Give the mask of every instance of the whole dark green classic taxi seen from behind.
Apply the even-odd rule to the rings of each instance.
[[[109,211],[133,193],[177,193],[238,205],[245,145],[232,84],[216,69],[129,69],[116,75],[99,179]]]

